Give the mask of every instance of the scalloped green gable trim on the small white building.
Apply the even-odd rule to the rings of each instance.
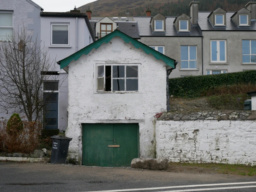
[[[77,61],[80,56],[82,56],[83,54],[87,55],[89,52],[91,52],[93,49],[98,49],[103,43],[108,43],[112,40],[112,38],[114,37],[121,37],[123,39],[123,41],[125,41],[126,43],[131,43],[133,44],[133,46],[135,46],[137,49],[142,49],[145,53],[147,54],[152,54],[157,60],[163,60],[168,66],[174,68],[174,62],[175,60],[169,58],[168,56],[152,49],[151,47],[135,40],[134,38],[120,32],[119,30],[115,30],[114,32],[106,35],[105,37],[95,41],[94,43],[84,47],[83,49],[77,51],[76,53],[68,56],[65,59],[60,60],[59,62],[57,62],[58,64],[60,64],[60,69],[63,69],[64,67],[67,67],[68,64],[75,60]]]

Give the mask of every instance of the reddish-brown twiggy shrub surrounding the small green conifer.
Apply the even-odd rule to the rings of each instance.
[[[22,121],[23,129],[8,133],[7,120],[0,120],[0,151],[31,153],[40,143],[42,124],[38,121]]]

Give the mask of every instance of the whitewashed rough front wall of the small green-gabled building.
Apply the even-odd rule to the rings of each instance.
[[[94,93],[94,63],[139,63],[140,93]],[[139,123],[140,156],[155,154],[154,118],[166,110],[166,64],[114,37],[69,64],[68,128],[73,138],[69,156],[82,161],[82,123]]]

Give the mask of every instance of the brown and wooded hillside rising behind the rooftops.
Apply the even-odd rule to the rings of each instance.
[[[178,16],[182,12],[190,14],[189,3],[192,0],[97,0],[78,8],[85,12],[90,8],[92,16],[145,16],[146,10],[151,15],[161,12],[165,16]],[[199,3],[199,11],[212,11],[222,7],[226,11],[237,11],[244,7],[249,0],[203,0]]]

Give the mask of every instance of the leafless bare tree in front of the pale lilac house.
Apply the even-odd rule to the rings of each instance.
[[[50,59],[48,49],[32,37],[33,31],[23,26],[7,36],[7,42],[0,43],[0,107],[2,112],[25,114],[28,121],[40,121],[47,104],[43,83],[59,79],[51,75],[57,70],[55,59]],[[48,91],[47,97],[50,94]]]

